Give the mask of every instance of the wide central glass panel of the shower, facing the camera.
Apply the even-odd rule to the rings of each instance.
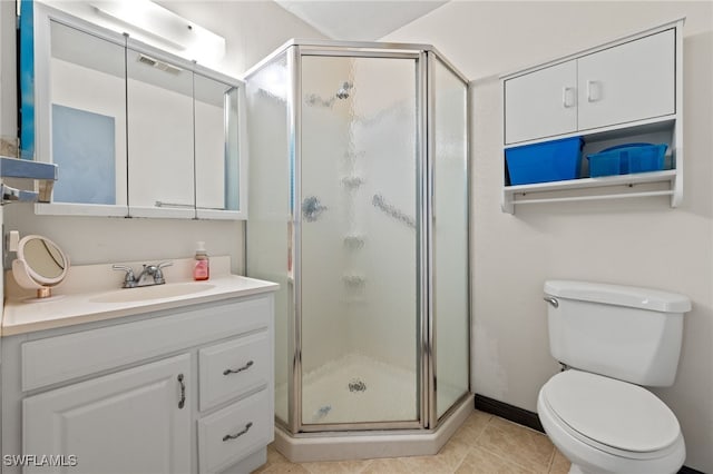
[[[301,61],[302,423],[414,422],[417,61]]]

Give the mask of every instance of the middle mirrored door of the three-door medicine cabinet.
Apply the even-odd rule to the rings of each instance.
[[[195,217],[193,71],[127,49],[129,216]]]

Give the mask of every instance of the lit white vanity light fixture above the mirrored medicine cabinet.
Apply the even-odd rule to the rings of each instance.
[[[90,6],[121,32],[168,47],[185,59],[214,63],[225,56],[225,38],[150,0],[94,1]]]

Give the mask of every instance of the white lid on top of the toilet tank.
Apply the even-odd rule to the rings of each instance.
[[[691,299],[685,295],[635,286],[559,279],[545,282],[545,293],[565,299],[629,306],[652,312],[691,310]]]

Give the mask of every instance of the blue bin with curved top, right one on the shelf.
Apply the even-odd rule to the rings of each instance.
[[[664,169],[666,144],[626,144],[588,155],[589,176],[627,175]]]

